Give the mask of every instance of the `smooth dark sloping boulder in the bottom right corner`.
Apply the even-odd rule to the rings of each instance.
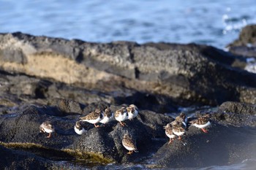
[[[197,112],[201,116],[205,112]],[[151,158],[154,167],[223,166],[256,156],[255,105],[226,102],[211,112],[208,134],[189,126],[182,141],[165,143]]]

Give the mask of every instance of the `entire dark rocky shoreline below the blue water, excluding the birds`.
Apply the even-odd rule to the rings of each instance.
[[[166,169],[255,158],[256,74],[246,71],[246,56],[232,54],[235,45],[227,53],[195,44],[0,34],[0,153],[5,155],[0,168],[105,169],[109,163],[132,163]],[[126,126],[116,120],[99,128],[84,123],[86,134],[75,134],[79,117],[129,104],[140,112]],[[189,126],[182,142],[168,144],[163,126],[191,106],[198,108],[186,112],[192,118],[211,113],[208,134]],[[39,133],[46,120],[56,127],[50,139]],[[138,153],[127,155],[122,146],[127,132]]]

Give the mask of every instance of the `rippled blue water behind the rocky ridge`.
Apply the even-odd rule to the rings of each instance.
[[[256,23],[255,0],[0,0],[0,32],[87,42],[195,42],[224,48],[249,23]]]

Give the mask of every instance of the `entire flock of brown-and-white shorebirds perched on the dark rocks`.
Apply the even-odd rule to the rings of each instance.
[[[94,112],[89,113],[89,115],[86,115],[85,117],[80,117],[74,126],[75,133],[82,135],[86,133],[86,129],[83,128],[83,125],[81,122],[86,121],[88,123],[94,124],[96,128],[99,127],[97,123],[106,124],[110,121],[115,119],[121,124],[121,126],[125,126],[124,120],[132,120],[135,118],[139,113],[138,107],[135,106],[135,104],[129,105],[129,107],[121,107],[121,109],[116,110],[115,113],[113,113],[109,107],[107,107],[104,111],[100,109],[96,109]],[[178,136],[178,139],[181,139],[181,136],[185,134],[185,131],[187,129],[187,125],[195,125],[197,128],[201,128],[203,132],[207,133],[206,128],[211,125],[210,123],[210,115],[204,115],[202,117],[198,117],[195,120],[192,120],[188,123],[187,116],[181,112],[176,119],[168,123],[164,126],[165,128],[165,134],[170,138],[170,144],[173,142],[173,140]],[[50,123],[50,121],[46,121],[42,123],[39,126],[40,132],[48,133],[48,136],[46,138],[50,138],[50,134],[55,131],[55,128]],[[129,134],[124,134],[122,139],[123,146],[129,150],[127,154],[132,154],[132,152],[138,152],[138,149],[136,147],[135,141],[132,139],[132,137]]]

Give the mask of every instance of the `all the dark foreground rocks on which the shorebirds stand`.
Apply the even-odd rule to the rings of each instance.
[[[256,122],[247,117],[255,120],[255,115],[248,115],[247,111],[241,109],[239,112],[235,109],[236,112],[232,114],[222,112],[225,105],[227,108],[229,105],[236,105],[236,108],[243,106],[247,108],[244,110],[251,110],[254,107],[251,104],[227,102],[219,111],[211,114],[214,121],[208,134],[204,134],[198,128],[189,127],[183,142],[176,139],[172,144],[167,144],[168,139],[165,138],[163,126],[173,121],[173,118],[147,110],[140,110],[134,120],[126,120],[127,125],[124,127],[116,120],[99,128],[85,123],[88,131],[79,136],[75,134],[73,127],[80,114],[62,113],[56,107],[49,106],[23,107],[20,112],[0,116],[0,144],[15,149],[20,154],[23,154],[23,151],[32,154],[33,161],[29,161],[31,167],[37,162],[45,167],[58,166],[56,160],[139,163],[148,157],[148,167],[199,167],[226,165],[254,158],[256,151],[252,148],[256,148]],[[74,106],[78,108],[80,104],[76,103]],[[83,114],[107,106],[109,105],[104,103],[89,104],[83,109]],[[119,108],[121,106],[110,105],[113,112]],[[56,133],[53,133],[50,139],[45,138],[47,134],[39,133],[39,125],[45,120],[50,120],[56,128]],[[126,133],[137,142],[138,153],[127,155],[127,150],[121,144]],[[26,157],[24,159],[27,163]],[[18,157],[17,161],[12,161],[18,163],[22,160],[23,158]],[[9,162],[3,163],[2,166],[11,167]]]

